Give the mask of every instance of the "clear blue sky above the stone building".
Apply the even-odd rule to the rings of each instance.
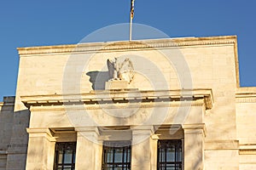
[[[255,0],[136,0],[133,21],[169,37],[236,35],[241,86],[256,86],[255,8]],[[130,0],[1,0],[0,101],[15,95],[16,48],[78,43],[129,18]]]

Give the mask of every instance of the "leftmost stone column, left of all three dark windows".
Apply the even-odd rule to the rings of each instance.
[[[26,170],[53,169],[55,141],[48,128],[27,128],[29,133]]]

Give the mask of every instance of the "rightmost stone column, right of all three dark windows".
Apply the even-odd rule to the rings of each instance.
[[[185,124],[184,130],[184,170],[204,169],[205,124]]]

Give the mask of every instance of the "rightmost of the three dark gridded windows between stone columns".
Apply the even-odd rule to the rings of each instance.
[[[159,140],[157,148],[158,170],[180,170],[183,165],[181,140]]]

